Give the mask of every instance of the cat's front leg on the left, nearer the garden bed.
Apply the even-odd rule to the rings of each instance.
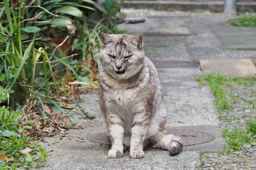
[[[116,114],[109,116],[109,133],[112,143],[111,150],[108,152],[110,158],[121,158],[123,155],[123,136],[124,128],[122,120]]]

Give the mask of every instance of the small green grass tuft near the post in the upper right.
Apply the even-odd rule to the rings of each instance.
[[[227,21],[228,24],[233,26],[256,26],[256,15],[249,12],[245,13],[242,17],[230,19]]]

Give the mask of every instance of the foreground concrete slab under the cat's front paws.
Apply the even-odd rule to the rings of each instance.
[[[200,166],[200,152],[182,151],[176,156],[170,156],[168,151],[148,147],[145,158],[132,159],[129,151],[120,159],[108,158],[110,145],[100,145],[86,139],[88,132],[101,130],[99,123],[86,123],[85,130],[69,130],[70,136],[63,140],[46,138],[48,143],[41,144],[47,150],[53,150],[48,159],[52,163],[45,164],[41,170],[195,170]],[[81,133],[81,132],[82,133]],[[85,140],[80,142],[82,137]],[[76,142],[79,140],[79,142]],[[58,143],[56,143],[58,142]],[[52,145],[52,143],[55,143]],[[48,145],[50,144],[50,145]]]

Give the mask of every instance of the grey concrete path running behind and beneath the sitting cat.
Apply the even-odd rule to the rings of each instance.
[[[69,130],[63,140],[45,139],[48,143],[42,143],[44,147],[53,150],[49,156],[52,163],[45,164],[42,170],[196,170],[201,164],[200,152],[218,152],[223,149],[225,140],[221,137],[221,130],[218,127],[214,96],[208,86],[200,86],[194,80],[202,75],[198,59],[253,58],[256,57],[256,51],[222,48],[212,27],[215,23],[226,22],[227,18],[158,17],[158,22],[153,21],[156,21],[156,18],[146,18],[145,23],[127,24],[121,29],[129,30],[128,33],[131,34],[143,33],[145,54],[156,65],[164,89],[168,115],[166,126],[206,131],[215,139],[205,144],[183,147],[183,151],[177,156],[169,156],[167,151],[148,147],[143,159],[131,159],[128,152],[120,159],[109,159],[109,145],[86,140],[87,134],[102,131],[100,123],[97,122],[99,91],[95,90],[85,98],[88,113],[95,115],[97,119],[84,123],[84,129]],[[161,28],[164,33],[166,31],[163,30],[167,30],[167,33],[172,32],[169,28],[173,28],[174,25],[182,25],[183,28],[178,29],[178,33],[187,35],[156,36],[154,33],[159,31],[151,29],[150,25],[153,23],[156,27],[165,23]]]

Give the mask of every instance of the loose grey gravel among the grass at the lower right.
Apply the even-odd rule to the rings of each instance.
[[[256,105],[256,83],[252,86],[234,85],[224,88],[224,91],[228,95],[237,97],[235,97],[236,103],[233,103],[234,110],[224,110],[221,113],[222,116],[228,115],[229,118],[220,120],[219,127],[229,130],[234,130],[235,127],[245,129],[246,120],[256,119],[256,109],[252,104],[248,104],[248,101],[253,101]],[[256,143],[244,144],[243,147],[244,150],[231,150],[226,155],[203,153],[201,161],[204,163],[201,170],[255,170]]]

